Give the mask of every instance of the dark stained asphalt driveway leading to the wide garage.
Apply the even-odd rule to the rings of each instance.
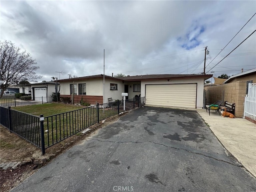
[[[256,179],[228,155],[196,111],[144,107],[12,191],[256,191]]]

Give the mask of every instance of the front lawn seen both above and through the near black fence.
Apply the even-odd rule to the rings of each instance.
[[[84,108],[84,106],[62,103],[18,106],[11,109],[35,116],[44,115],[44,143],[46,148],[96,124],[98,120],[118,114],[117,107],[97,110],[95,106]],[[38,130],[40,130],[40,124],[35,123],[35,120],[31,120],[28,115],[19,115],[14,120],[16,121],[12,123],[13,130],[19,132],[30,142],[39,144],[40,131]]]

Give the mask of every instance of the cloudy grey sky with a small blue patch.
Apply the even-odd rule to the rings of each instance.
[[[254,0],[1,0],[0,36],[36,59],[39,82],[103,74],[104,49],[109,76],[200,74],[206,46],[206,72],[233,75],[256,68],[255,13]]]

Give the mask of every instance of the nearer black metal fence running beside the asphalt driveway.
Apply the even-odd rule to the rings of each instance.
[[[47,117],[38,117],[0,106],[0,124],[41,148],[44,154],[45,149],[89,126],[121,112],[141,107],[144,103],[144,97],[133,98]]]

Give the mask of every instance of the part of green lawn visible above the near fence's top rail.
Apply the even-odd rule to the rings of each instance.
[[[35,116],[40,116],[40,114],[43,114],[44,117],[60,114],[72,110],[77,110],[83,108],[82,106],[73,106],[73,105],[67,105],[62,103],[47,103],[47,104],[40,104],[40,105],[28,105],[28,106],[18,106],[18,107],[12,107],[12,109],[25,112],[28,114],[32,114]]]

